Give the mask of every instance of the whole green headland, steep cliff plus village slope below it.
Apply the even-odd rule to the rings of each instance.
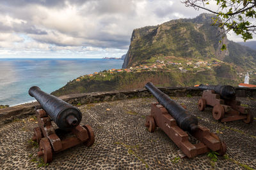
[[[163,87],[237,86],[247,71],[256,76],[256,51],[227,37],[222,40],[227,50],[221,51],[220,29],[211,25],[211,17],[202,14],[135,29],[123,69],[80,76],[52,94],[140,89],[148,81]]]

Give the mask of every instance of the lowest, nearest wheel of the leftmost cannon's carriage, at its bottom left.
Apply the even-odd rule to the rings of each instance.
[[[39,149],[38,156],[43,157],[44,163],[52,162],[52,146],[48,138],[42,138],[40,140]]]

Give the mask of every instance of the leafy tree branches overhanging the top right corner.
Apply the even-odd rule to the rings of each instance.
[[[244,41],[252,39],[256,32],[256,24],[253,20],[256,18],[255,0],[214,0],[218,10],[211,10],[212,0],[186,0],[182,3],[195,10],[203,9],[214,13],[213,25],[218,25],[223,32],[222,36],[232,30],[237,35],[241,35]],[[225,46],[223,46],[225,48]]]

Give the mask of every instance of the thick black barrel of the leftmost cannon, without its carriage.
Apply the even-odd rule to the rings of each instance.
[[[43,92],[39,87],[33,86],[29,89],[29,95],[35,97],[49,117],[60,129],[69,131],[80,124],[81,111],[67,102]]]

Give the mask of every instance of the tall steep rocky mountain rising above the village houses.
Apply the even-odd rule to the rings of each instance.
[[[222,41],[227,50],[220,50],[220,29],[212,25],[212,17],[214,15],[204,13],[192,19],[134,29],[123,68],[145,64],[159,56],[215,58],[242,67],[255,67],[256,51],[228,41],[226,36]]]

